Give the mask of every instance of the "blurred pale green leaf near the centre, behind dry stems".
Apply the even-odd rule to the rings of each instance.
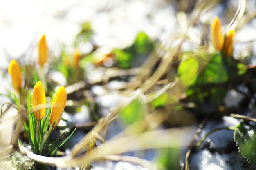
[[[120,111],[120,117],[124,120],[124,123],[129,126],[135,121],[143,119],[144,112],[145,109],[141,99],[135,99]]]

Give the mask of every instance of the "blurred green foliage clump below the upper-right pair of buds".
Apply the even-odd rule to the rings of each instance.
[[[239,84],[236,77],[246,72],[245,66],[233,58],[227,58],[220,53],[195,54],[183,53],[177,74],[186,87],[186,101],[197,106],[209,104],[211,112],[222,104],[229,84]]]

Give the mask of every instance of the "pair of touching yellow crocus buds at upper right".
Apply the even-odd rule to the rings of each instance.
[[[221,21],[217,16],[211,22],[211,38],[215,49],[222,52],[226,57],[230,57],[233,51],[234,30],[229,30],[225,35],[221,31]]]

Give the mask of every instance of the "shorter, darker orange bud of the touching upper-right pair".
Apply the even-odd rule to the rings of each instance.
[[[235,31],[234,30],[229,30],[225,36],[225,42],[224,46],[222,49],[222,53],[226,57],[230,57],[232,52],[233,52],[233,38],[235,36]]]

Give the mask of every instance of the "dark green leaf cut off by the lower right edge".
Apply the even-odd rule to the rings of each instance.
[[[255,127],[245,125],[241,122],[234,133],[234,141],[238,146],[239,152],[245,157],[249,163],[256,166],[256,136]]]

